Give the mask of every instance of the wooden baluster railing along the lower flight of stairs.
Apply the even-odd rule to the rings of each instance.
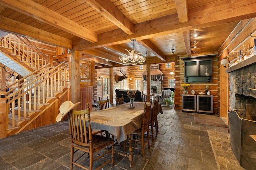
[[[66,87],[68,79],[67,61],[60,63],[54,68],[45,68],[18,86],[10,89],[6,95],[7,116],[12,118],[12,128],[16,127],[16,120],[28,118],[32,113],[40,111],[38,106],[47,104],[54,98],[55,92],[61,92]],[[47,100],[48,99],[48,100]]]

